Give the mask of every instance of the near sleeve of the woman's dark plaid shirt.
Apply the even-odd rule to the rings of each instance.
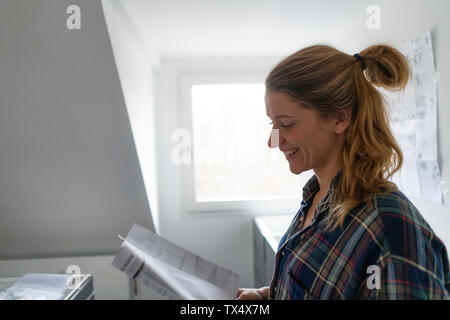
[[[383,224],[379,286],[369,299],[449,300],[450,273],[444,243],[400,191],[377,202]],[[371,286],[373,287],[373,286]]]

